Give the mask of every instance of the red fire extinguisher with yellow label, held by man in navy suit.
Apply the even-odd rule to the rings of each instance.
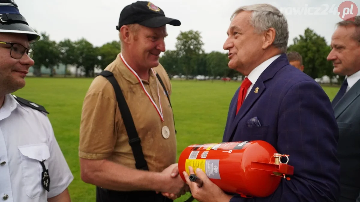
[[[189,166],[200,168],[225,192],[267,197],[278,188],[280,180],[293,175],[294,168],[288,161],[288,155],[278,153],[265,141],[194,144],[181,153],[179,174],[185,182],[183,171],[189,174]],[[190,178],[196,180],[196,176]]]

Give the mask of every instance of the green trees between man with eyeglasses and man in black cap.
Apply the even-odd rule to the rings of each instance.
[[[50,76],[52,76],[54,69],[60,63],[64,64],[65,68],[67,65],[76,66],[76,73],[80,69],[82,72],[85,72],[86,77],[94,76],[95,68],[104,69],[116,58],[116,55],[121,50],[120,42],[118,41],[108,42],[100,47],[95,47],[85,38],[77,41],[65,38],[57,43],[50,40],[46,32],[40,34],[41,39],[30,45],[34,49],[33,60],[35,65],[33,68],[34,75],[36,76],[41,75],[41,66],[49,68]],[[67,69],[65,69],[65,72],[67,72]]]

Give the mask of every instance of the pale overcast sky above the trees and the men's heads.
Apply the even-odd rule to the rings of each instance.
[[[352,0],[360,7],[359,0]],[[135,1],[130,0],[15,0],[20,13],[32,28],[47,32],[51,40],[64,38],[75,41],[82,37],[101,46],[118,40],[116,25],[122,8]],[[329,44],[339,15],[330,13],[338,8],[341,0],[153,0],[167,17],[181,21],[181,26],[167,26],[166,49],[174,50],[176,36],[190,29],[201,32],[206,52],[221,51],[226,40],[230,16],[238,7],[256,3],[269,3],[284,10],[289,24],[289,45],[293,38],[303,35],[309,27]],[[315,9],[318,7],[318,14]],[[295,15],[291,10],[298,10]],[[305,10],[309,9],[308,15]],[[303,12],[302,12],[303,11]],[[336,9],[337,12],[337,9]],[[323,15],[321,15],[323,13]]]

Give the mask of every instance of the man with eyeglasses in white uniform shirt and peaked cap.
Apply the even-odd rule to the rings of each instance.
[[[40,39],[13,0],[0,0],[0,201],[70,202],[73,175],[41,105],[12,95],[25,86]]]

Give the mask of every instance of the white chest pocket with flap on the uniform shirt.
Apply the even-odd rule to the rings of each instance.
[[[21,168],[26,194],[30,198],[40,197],[46,192],[41,185],[42,166],[40,161],[45,160],[44,164],[48,169],[49,163],[46,160],[50,157],[49,146],[40,143],[19,146],[18,149],[21,153]]]

